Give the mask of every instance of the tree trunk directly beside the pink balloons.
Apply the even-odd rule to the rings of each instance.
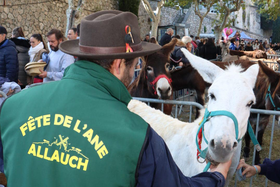
[[[219,2],[217,3],[219,23],[214,27],[216,41],[219,41],[221,39],[222,31],[229,23],[230,14],[232,12],[239,11],[242,3],[243,0],[219,0]]]

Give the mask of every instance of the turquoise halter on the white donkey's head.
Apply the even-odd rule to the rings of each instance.
[[[239,134],[239,131],[238,131],[238,121],[237,121],[236,117],[235,117],[231,112],[225,111],[225,110],[218,110],[218,111],[209,112],[207,108],[205,109],[205,113],[204,113],[203,120],[202,120],[202,122],[200,123],[200,126],[199,126],[199,128],[198,128],[198,130],[197,130],[196,137],[198,137],[199,131],[200,131],[200,129],[202,129],[202,136],[203,136],[203,139],[204,139],[205,143],[208,144],[208,141],[207,141],[207,139],[206,139],[205,136],[204,136],[204,128],[203,128],[203,127],[204,127],[204,124],[205,124],[208,120],[210,120],[211,117],[214,117],[214,116],[227,116],[227,117],[231,118],[232,121],[234,122],[235,135],[236,135],[235,138],[236,138],[237,142],[240,142],[240,140],[242,140],[242,138],[238,139],[238,134]],[[260,147],[260,145],[259,145],[259,143],[258,143],[258,141],[257,141],[257,139],[256,139],[256,137],[255,137],[255,135],[254,135],[254,131],[253,131],[253,129],[252,129],[252,127],[251,127],[249,121],[248,121],[247,130],[249,131],[249,135],[250,135],[250,137],[251,137],[251,139],[252,139],[254,145],[258,144],[259,148],[261,149],[261,147]],[[195,142],[196,142],[197,150],[198,150],[199,153],[200,153],[199,156],[200,156],[201,158],[205,159],[205,158],[206,158],[206,154],[207,154],[208,147],[205,148],[204,150],[201,150],[201,149],[199,148],[199,144],[198,144],[198,139],[197,139],[197,138],[195,138]],[[210,165],[211,165],[211,163],[208,162],[203,171],[204,171],[204,172],[207,171],[207,170],[209,169]]]

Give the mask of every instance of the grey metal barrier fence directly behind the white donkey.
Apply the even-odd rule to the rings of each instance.
[[[134,97],[133,99],[136,99],[136,100],[139,100],[139,101],[143,101],[143,102],[146,102],[148,105],[150,105],[150,103],[161,103],[161,111],[163,111],[164,109],[164,104],[173,104],[174,107],[175,107],[175,110],[174,110],[174,117],[175,118],[178,118],[179,116],[179,111],[178,111],[178,108],[180,108],[180,106],[189,106],[190,107],[190,111],[189,111],[189,122],[193,121],[191,116],[193,116],[192,114],[192,110],[191,108],[193,106],[195,107],[198,107],[200,109],[203,108],[202,105],[200,105],[199,103],[196,103],[196,102],[191,102],[191,101],[176,101],[176,100],[158,100],[158,99],[148,99],[148,98],[139,98],[139,97]],[[258,132],[258,129],[259,129],[259,121],[260,121],[260,115],[264,114],[264,115],[271,115],[272,116],[272,123],[269,124],[269,126],[271,125],[271,135],[270,135],[270,145],[269,145],[269,153],[268,155],[266,155],[266,158],[271,158],[271,155],[272,155],[272,144],[273,144],[273,135],[274,135],[274,130],[275,130],[275,119],[277,116],[280,116],[280,111],[273,111],[273,110],[260,110],[260,109],[251,109],[251,113],[256,113],[257,114],[257,123],[256,123],[256,132]],[[268,127],[267,127],[268,128]],[[266,129],[267,131],[268,129]],[[257,133],[256,133],[256,137],[257,137]],[[255,160],[255,151],[256,149],[254,148],[254,151],[251,151],[251,153],[253,152],[253,155],[252,155],[252,165],[253,165],[253,162]],[[280,153],[277,153],[277,157],[279,158],[280,157]],[[250,163],[248,163],[250,164]],[[237,173],[236,173],[237,175]],[[246,186],[248,186],[250,183],[250,187],[252,186],[255,186],[253,185],[253,181],[256,180],[256,177],[258,176],[253,176],[250,178],[250,180],[246,180]],[[234,186],[237,187],[237,186],[240,186],[240,183],[238,180],[237,180],[237,177],[235,176],[235,181],[233,181],[232,183],[234,183]],[[243,181],[242,181],[243,182]],[[244,185],[244,182],[242,183],[242,186]],[[260,186],[263,186],[262,184]],[[267,187],[268,186],[268,180],[266,179],[265,180],[265,186]]]

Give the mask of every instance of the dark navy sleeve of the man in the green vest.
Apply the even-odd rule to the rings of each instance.
[[[175,164],[163,139],[151,128],[137,170],[137,187],[222,187],[225,178],[218,172],[186,177]],[[190,168],[191,169],[191,168]]]

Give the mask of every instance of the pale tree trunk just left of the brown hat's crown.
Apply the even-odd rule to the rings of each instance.
[[[83,5],[83,0],[78,1],[77,8],[74,7],[74,0],[68,0],[68,9],[66,10],[67,25],[65,30],[65,37],[67,37],[68,30],[73,27],[75,17],[78,17],[81,7]]]

